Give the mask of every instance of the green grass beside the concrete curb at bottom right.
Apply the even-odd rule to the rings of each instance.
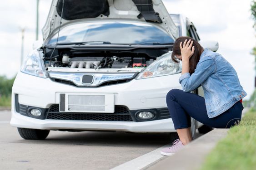
[[[256,170],[256,110],[251,109],[228,131],[201,170]]]

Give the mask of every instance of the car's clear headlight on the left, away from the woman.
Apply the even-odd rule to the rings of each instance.
[[[47,73],[44,66],[44,61],[41,58],[43,53],[33,50],[25,59],[20,71],[40,78],[47,78]]]

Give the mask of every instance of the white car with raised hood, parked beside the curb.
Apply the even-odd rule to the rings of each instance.
[[[181,63],[171,49],[181,35],[199,41],[194,25],[161,0],[85,1],[52,1],[44,43],[12,87],[11,126],[24,139],[50,130],[174,132],[166,94],[181,89]],[[192,120],[193,134],[198,125]]]

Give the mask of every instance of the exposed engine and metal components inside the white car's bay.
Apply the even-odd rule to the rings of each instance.
[[[74,56],[69,53],[63,53],[53,58],[44,58],[45,68],[86,68],[86,69],[103,69],[103,68],[146,68],[155,61],[156,58],[150,57],[127,57],[122,54],[109,56]]]

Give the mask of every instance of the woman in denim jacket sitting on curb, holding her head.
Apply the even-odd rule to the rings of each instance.
[[[219,53],[203,49],[190,37],[180,37],[173,45],[174,62],[182,61],[179,82],[182,90],[172,89],[166,103],[180,139],[161,151],[171,155],[192,141],[191,119],[216,127],[230,128],[241,120],[241,99],[247,94],[241,87],[235,69]],[[204,97],[191,91],[202,86]]]

